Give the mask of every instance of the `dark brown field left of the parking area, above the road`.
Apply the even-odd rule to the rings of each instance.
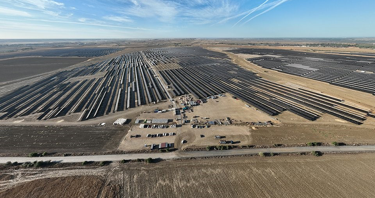
[[[128,130],[128,126],[0,126],[0,154],[113,151]]]

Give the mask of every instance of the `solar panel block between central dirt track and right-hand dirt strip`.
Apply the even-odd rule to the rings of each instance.
[[[181,52],[185,52],[186,56]],[[172,87],[175,96],[192,93],[196,98],[206,98],[227,92],[270,115],[289,110],[308,120],[316,120],[323,113],[328,113],[362,124],[367,116],[373,115],[370,109],[315,90],[264,80],[233,64],[225,54],[207,55],[207,52],[199,48],[182,48],[165,51],[151,49],[145,54],[151,56],[153,67]],[[169,58],[161,54],[168,54]]]

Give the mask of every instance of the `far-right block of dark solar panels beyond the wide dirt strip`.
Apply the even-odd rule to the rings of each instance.
[[[374,57],[274,49],[236,49],[228,52],[259,55],[259,57],[248,58],[247,60],[266,69],[311,78],[375,95]]]

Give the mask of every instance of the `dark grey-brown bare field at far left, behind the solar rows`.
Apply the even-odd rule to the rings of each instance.
[[[87,59],[78,57],[27,57],[1,60],[0,82],[52,72],[86,61]]]

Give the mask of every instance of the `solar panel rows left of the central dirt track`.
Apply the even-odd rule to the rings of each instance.
[[[142,52],[59,71],[1,97],[0,119],[38,114],[38,120],[47,120],[81,113],[82,121],[165,100],[154,75]]]

